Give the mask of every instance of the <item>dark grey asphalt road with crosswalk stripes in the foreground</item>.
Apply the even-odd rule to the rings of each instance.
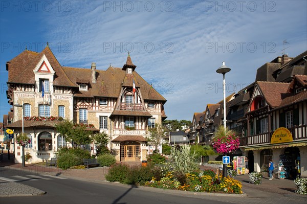
[[[226,203],[206,199],[201,195],[185,195],[185,192],[167,193],[161,189],[135,187],[106,182],[84,182],[60,179],[25,171],[2,171],[3,179],[28,185],[46,194],[39,196],[1,197],[5,203]],[[8,182],[8,181],[7,181]]]

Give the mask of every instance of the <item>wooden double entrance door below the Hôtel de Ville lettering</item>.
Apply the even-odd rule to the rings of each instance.
[[[140,161],[140,144],[134,141],[126,141],[120,145],[120,158],[122,162]]]

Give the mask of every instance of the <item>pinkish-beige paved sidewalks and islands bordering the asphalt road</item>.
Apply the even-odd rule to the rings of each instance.
[[[108,172],[107,167],[93,167],[90,169],[68,169],[68,170],[61,170],[55,167],[43,167],[37,165],[26,165],[26,167],[21,167],[21,164],[13,164],[12,157],[10,161],[4,160],[0,162],[0,168],[6,168],[10,171],[28,171],[29,174],[39,174],[43,173],[46,175],[54,176],[54,177],[66,177],[66,178],[73,178],[73,179],[80,179],[80,180],[87,180],[89,182],[103,182],[105,180],[104,174]],[[130,165],[141,165],[139,163],[130,163]],[[0,178],[1,179],[1,178]],[[270,204],[283,204],[283,203],[307,203],[307,196],[306,195],[299,195],[296,194],[294,191],[296,186],[293,180],[290,179],[273,179],[269,180],[268,177],[264,176],[262,183],[260,185],[253,185],[250,184],[248,174],[246,175],[239,175],[236,176],[240,182],[242,182],[243,192],[245,193],[242,195],[219,195],[218,193],[198,193],[198,195],[206,196],[206,198],[216,201],[223,201],[229,203],[270,203]],[[15,195],[11,196],[26,196],[26,195],[40,195],[41,191],[38,189],[34,189],[32,187],[19,184],[16,185],[15,182],[7,182],[5,184],[0,183],[1,189],[8,189],[8,188],[22,188],[24,190],[21,191],[10,191],[11,193],[14,192]],[[152,188],[140,188],[144,190],[149,190],[152,192],[156,192]],[[6,190],[1,190],[1,196],[8,196]],[[162,191],[161,191],[162,192]],[[172,193],[171,190],[163,190],[163,192]],[[181,195],[186,196],[193,196],[193,194],[181,192]]]

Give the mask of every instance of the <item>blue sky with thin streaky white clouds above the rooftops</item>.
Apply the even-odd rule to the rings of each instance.
[[[63,66],[138,72],[167,100],[168,120],[192,120],[207,104],[255,81],[282,54],[307,50],[307,1],[0,1],[0,121],[10,105],[6,62],[47,42]],[[34,69],[34,67],[33,67]]]

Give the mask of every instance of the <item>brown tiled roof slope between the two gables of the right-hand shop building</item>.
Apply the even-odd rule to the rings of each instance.
[[[271,107],[277,107],[281,103],[282,94],[286,94],[290,83],[257,81],[261,93]]]

